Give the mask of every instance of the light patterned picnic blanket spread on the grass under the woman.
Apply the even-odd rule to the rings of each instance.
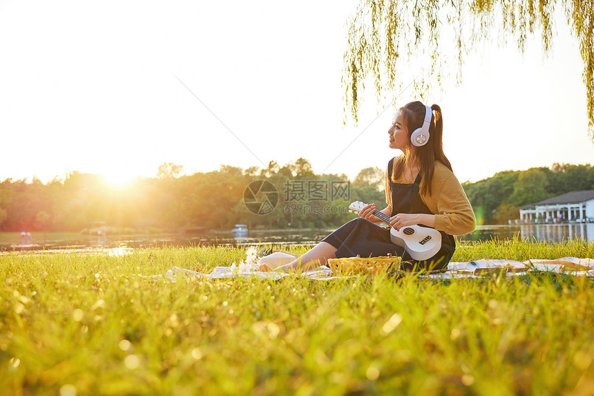
[[[506,274],[517,276],[528,272],[554,272],[555,274],[571,274],[575,276],[594,276],[594,259],[563,257],[555,260],[534,259],[527,261],[513,261],[505,259],[483,258],[481,260],[462,263],[449,263],[445,272],[439,274],[421,274],[420,276],[433,279],[479,278],[488,274]],[[237,271],[231,267],[215,267],[210,274],[173,267],[165,274],[143,276],[155,280],[169,280],[175,282],[180,276],[193,279],[227,279],[236,277],[256,277],[278,281],[287,276],[284,272]],[[349,276],[334,276],[329,267],[319,267],[316,270],[304,272],[301,276],[317,281],[341,279]]]

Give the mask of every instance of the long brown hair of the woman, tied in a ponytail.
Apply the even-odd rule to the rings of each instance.
[[[419,166],[421,174],[421,192],[425,195],[431,195],[431,181],[435,169],[435,161],[446,165],[450,171],[452,164],[443,153],[443,117],[441,116],[441,107],[437,104],[431,106],[432,115],[429,126],[429,140],[427,144],[416,148],[416,155],[412,157],[410,149],[403,150],[403,155],[394,163],[392,167],[392,181],[396,180],[404,169],[407,160],[412,160]],[[408,138],[412,132],[423,126],[425,120],[425,105],[421,102],[410,102],[399,109],[406,129],[408,129]],[[412,143],[411,143],[412,144]]]

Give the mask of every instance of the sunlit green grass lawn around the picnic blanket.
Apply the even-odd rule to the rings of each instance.
[[[294,252],[303,253],[304,247]],[[10,395],[592,395],[591,279],[533,274],[155,283],[242,249],[0,256]],[[594,257],[588,243],[482,243],[454,261]]]

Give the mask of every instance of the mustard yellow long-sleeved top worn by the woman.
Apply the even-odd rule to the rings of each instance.
[[[396,163],[396,159],[394,159]],[[390,194],[390,176],[385,175],[385,200],[388,206],[392,207],[392,196]],[[405,180],[400,175],[396,183],[412,184],[416,174],[411,180]],[[432,214],[435,215],[435,229],[446,232],[450,235],[468,234],[475,229],[477,220],[475,212],[472,211],[466,193],[454,173],[439,161],[435,162],[433,180],[431,182],[432,194],[421,195],[421,200],[427,205]]]

